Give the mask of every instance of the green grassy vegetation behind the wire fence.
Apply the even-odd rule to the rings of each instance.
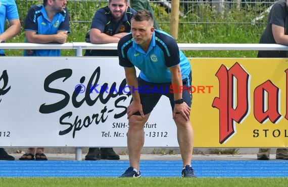
[[[24,42],[24,20],[32,5],[39,5],[42,1],[16,0],[22,24],[21,33],[8,42]],[[85,32],[90,27],[94,12],[107,5],[98,1],[68,1],[70,12],[71,34],[68,42],[84,42]],[[267,16],[257,24],[251,24],[255,12],[263,12],[268,5],[255,4],[242,9],[233,4],[223,14],[215,12],[209,3],[192,4],[189,12],[180,7],[184,16],[179,19],[178,43],[258,43],[265,27]],[[170,14],[159,4],[152,3],[162,30],[169,33]],[[252,11],[253,10],[253,11]],[[6,50],[7,55],[22,56],[22,50]],[[184,51],[188,57],[256,57],[257,51]],[[74,56],[74,51],[62,50],[63,56]]]

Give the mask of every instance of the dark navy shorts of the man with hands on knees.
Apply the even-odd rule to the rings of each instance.
[[[179,88],[176,85],[172,86],[171,83],[165,84],[156,84],[156,83],[149,83],[147,81],[142,80],[138,77],[138,92],[140,95],[140,100],[142,104],[142,109],[144,115],[151,113],[153,108],[156,106],[160,97],[165,95],[169,98],[172,111],[174,110],[174,93],[173,92],[182,92],[182,98],[184,102],[190,107],[192,102],[192,88],[191,88],[191,72],[189,74],[189,79],[182,80],[183,87]],[[171,87],[173,87],[171,89]],[[186,89],[185,89],[186,88]],[[177,89],[177,90],[176,90]],[[133,92],[133,89],[132,89]],[[133,98],[131,99],[131,102]],[[140,113],[134,113],[133,115],[140,116]]]

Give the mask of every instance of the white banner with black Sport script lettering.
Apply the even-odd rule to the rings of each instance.
[[[125,147],[125,86],[118,58],[1,57],[0,147]],[[168,98],[144,130],[144,146],[178,147]]]

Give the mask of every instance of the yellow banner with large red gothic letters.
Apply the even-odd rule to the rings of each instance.
[[[288,59],[192,58],[195,147],[286,147]]]

